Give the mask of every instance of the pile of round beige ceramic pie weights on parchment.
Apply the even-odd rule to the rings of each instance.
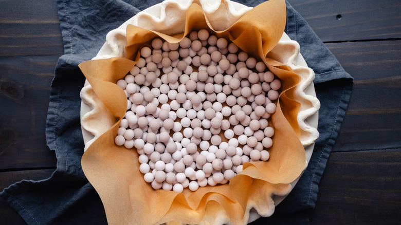
[[[205,29],[154,39],[140,55],[117,82],[127,111],[115,143],[137,149],[153,189],[225,184],[245,162],[269,159],[281,82],[264,62]]]

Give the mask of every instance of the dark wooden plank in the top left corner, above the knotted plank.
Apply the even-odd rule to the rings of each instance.
[[[0,57],[64,53],[55,1],[0,1]]]

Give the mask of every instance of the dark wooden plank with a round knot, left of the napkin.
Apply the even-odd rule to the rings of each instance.
[[[45,123],[57,59],[0,57],[0,170],[56,166]]]

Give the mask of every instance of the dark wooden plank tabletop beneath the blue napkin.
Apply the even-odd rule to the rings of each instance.
[[[355,79],[311,223],[401,223],[401,2],[289,2]],[[56,169],[45,121],[62,54],[56,1],[0,1],[0,191]],[[3,199],[0,221],[25,224]]]

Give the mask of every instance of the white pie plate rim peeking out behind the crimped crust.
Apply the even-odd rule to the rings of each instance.
[[[184,4],[184,3],[186,3],[187,1],[186,1],[186,0],[177,0],[176,2],[178,2],[178,3],[183,3],[183,4]],[[208,2],[210,2],[211,4],[213,4],[213,3],[215,2],[215,0],[209,0]],[[247,6],[245,6],[245,5],[242,5],[242,4],[236,3],[236,2],[232,2],[232,1],[231,1],[231,3],[233,4],[233,6],[235,7],[236,10],[240,10],[241,8],[247,7]],[[160,4],[156,4],[156,5],[154,5],[154,6],[151,6],[151,7],[147,8],[147,9],[145,9],[145,10],[143,10],[143,11],[144,11],[144,12],[147,12],[147,13],[149,13],[149,14],[151,14],[151,15],[154,15],[154,16],[159,16],[159,15],[160,15]],[[131,22],[133,21],[133,18],[134,18],[134,17],[135,17],[135,16],[133,16],[132,18],[130,18],[130,20],[127,20],[127,21],[126,21],[125,23],[123,23],[119,28],[120,28],[120,29],[125,29],[127,25],[131,24]],[[281,40],[282,40],[282,41],[287,41],[287,40],[290,40],[290,38],[288,37],[288,35],[287,35],[286,33],[283,33],[283,35],[282,35],[282,37],[281,37]],[[99,50],[99,52],[97,53],[96,56],[99,57],[99,56],[101,56],[101,55],[108,55],[108,54],[111,54],[111,53],[112,53],[111,48],[110,48],[106,43],[104,43],[104,45],[103,45],[102,48]],[[295,64],[295,65],[307,67],[307,64],[306,64],[305,60],[303,59],[301,53],[298,54],[298,57],[297,57],[297,60],[296,60],[296,64]],[[89,84],[89,83],[88,83],[88,81],[86,80],[84,86],[86,86],[86,85],[88,85],[88,84]],[[307,95],[316,97],[315,86],[314,86],[313,82],[312,82],[312,83],[309,85],[309,87],[306,89],[305,93],[306,93]],[[80,113],[81,113],[81,118],[82,118],[86,113],[88,113],[90,110],[92,110],[92,109],[91,109],[88,105],[86,105],[85,103],[83,103],[83,102],[81,101],[81,112],[80,112]],[[319,116],[318,116],[318,111],[317,111],[314,115],[312,115],[311,117],[308,117],[308,118],[306,119],[306,122],[307,122],[310,126],[312,126],[312,127],[314,127],[314,128],[317,128],[317,126],[318,126],[318,119],[319,119]],[[87,143],[88,141],[90,141],[90,140],[92,140],[92,139],[94,138],[94,135],[93,135],[92,133],[88,132],[88,131],[87,131],[86,129],[84,129],[82,126],[81,126],[81,129],[82,129],[83,140],[84,140],[85,143]],[[307,161],[307,162],[309,162],[309,160],[311,160],[314,146],[315,146],[315,143],[312,143],[311,145],[308,145],[308,146],[305,147],[305,158],[306,158],[306,161]],[[293,188],[294,188],[294,186],[296,185],[296,183],[298,182],[298,180],[300,179],[301,176],[302,176],[302,174],[301,174],[296,180],[294,180],[293,182],[291,182],[291,186],[293,186]],[[284,198],[285,198],[286,196],[287,196],[287,195],[284,195],[284,196],[276,196],[276,195],[274,195],[274,196],[272,196],[272,199],[274,200],[275,205],[277,206],[281,201],[284,200]],[[252,222],[252,221],[254,221],[254,220],[256,220],[256,219],[258,219],[258,218],[260,218],[260,217],[261,217],[261,216],[260,216],[256,211],[251,210],[250,213],[249,213],[249,220],[248,220],[248,223],[249,223],[249,222]]]

